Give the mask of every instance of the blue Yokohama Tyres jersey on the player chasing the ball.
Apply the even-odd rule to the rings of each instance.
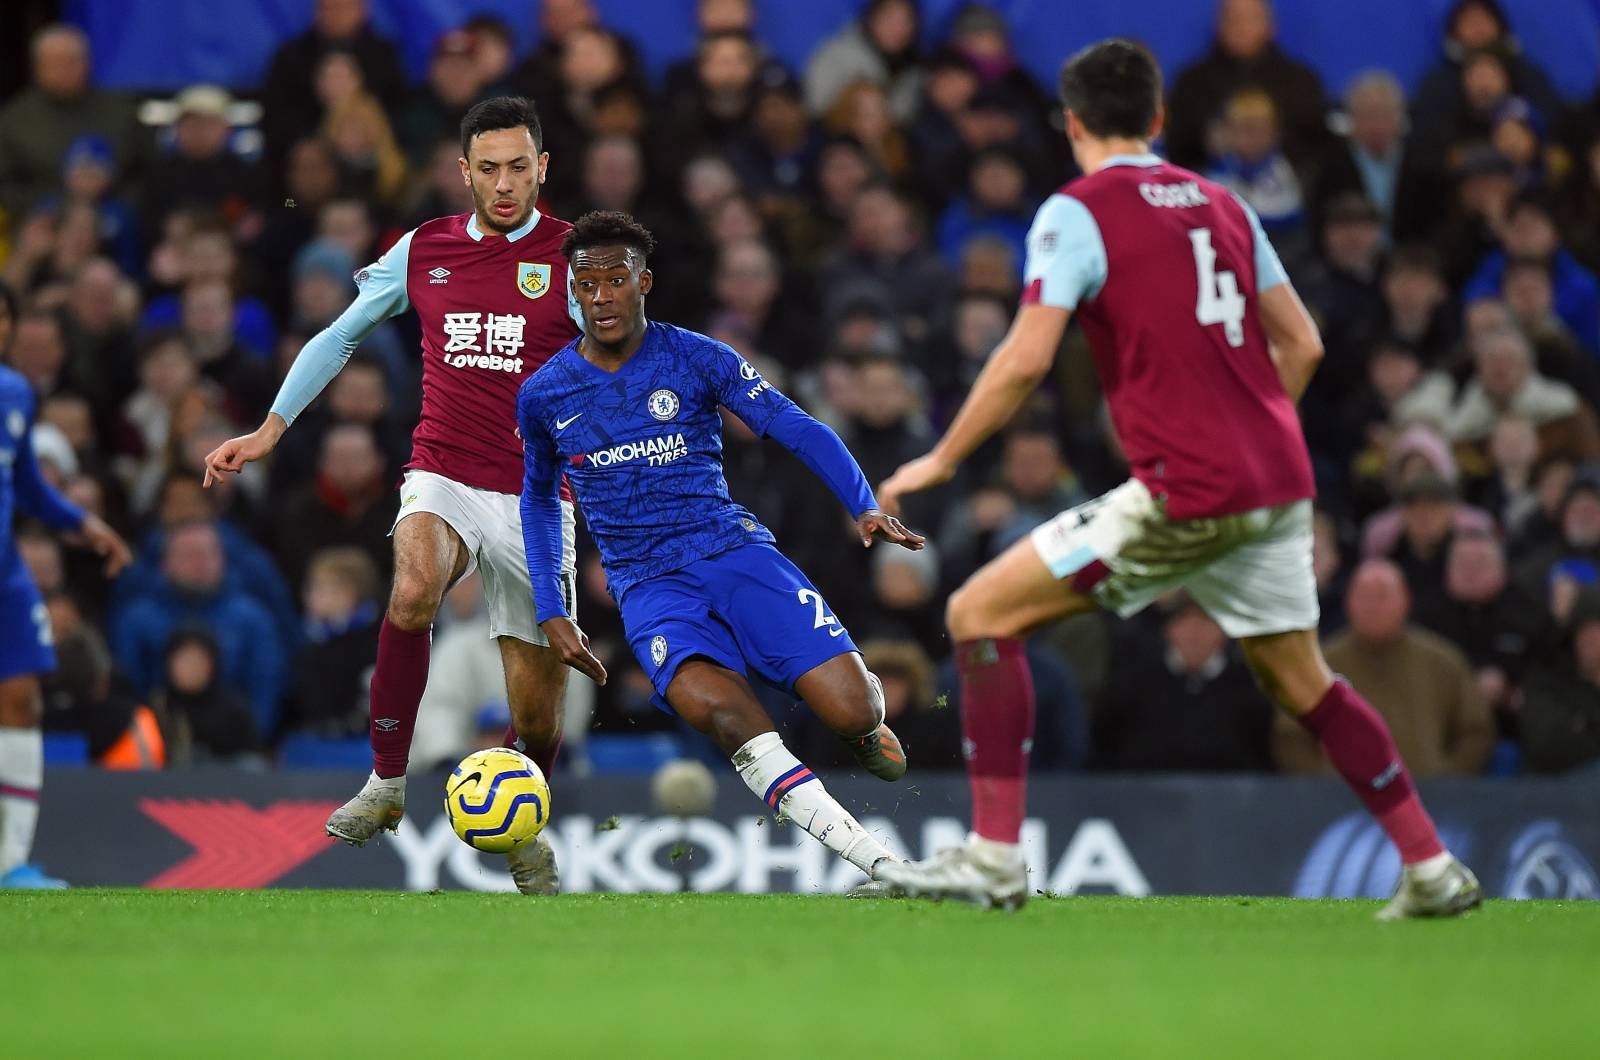
[[[555,567],[534,564],[547,546],[544,524],[563,471],[618,600],[642,578],[752,541],[773,543],[728,496],[718,405],[762,436],[794,408],[730,346],[654,322],[616,371],[586,360],[574,339],[523,383],[523,535],[541,620],[565,613]]]

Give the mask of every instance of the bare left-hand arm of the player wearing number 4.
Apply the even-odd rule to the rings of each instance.
[[[907,493],[949,482],[974,448],[1011,421],[1027,395],[1050,375],[1070,315],[1070,309],[1042,304],[1018,311],[1011,330],[989,355],[989,363],[939,444],[926,456],[902,464],[878,487],[885,511],[899,511],[899,501]]]

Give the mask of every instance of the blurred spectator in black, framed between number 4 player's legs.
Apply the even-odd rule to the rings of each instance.
[[[1094,713],[1094,769],[1267,772],[1272,705],[1227,634],[1181,597],[1162,621],[1160,663],[1112,681]]]

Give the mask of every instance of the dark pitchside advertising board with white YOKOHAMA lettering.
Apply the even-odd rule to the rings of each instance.
[[[400,833],[362,850],[323,820],[358,773],[50,770],[35,860],[80,885],[506,890],[504,861],[456,839],[443,775],[411,778]],[[568,890],[840,892],[861,874],[778,826],[722,773],[706,817],[662,815],[637,778],[554,785],[547,834]],[[966,781],[829,780],[901,855],[962,841]],[[1424,797],[1494,897],[1600,898],[1600,778],[1445,781]],[[1022,839],[1053,893],[1382,897],[1394,847],[1331,780],[1037,778]]]

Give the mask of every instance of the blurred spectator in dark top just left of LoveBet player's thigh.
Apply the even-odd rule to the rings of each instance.
[[[306,642],[294,658],[283,729],[320,737],[366,732],[366,685],[378,660],[379,567],[358,548],[315,552],[306,568]]]

